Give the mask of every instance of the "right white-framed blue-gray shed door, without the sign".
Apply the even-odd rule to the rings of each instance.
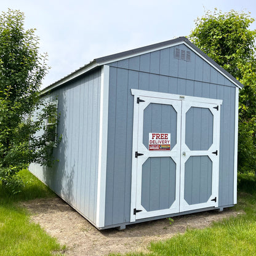
[[[216,104],[182,102],[180,212],[218,206],[219,140]]]

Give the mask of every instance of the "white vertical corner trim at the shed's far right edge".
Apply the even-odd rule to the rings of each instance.
[[[236,87],[236,103],[234,116],[234,204],[237,203],[238,189],[238,102],[239,89]]]

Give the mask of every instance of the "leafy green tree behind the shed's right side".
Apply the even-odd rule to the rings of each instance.
[[[254,19],[244,12],[207,11],[196,20],[190,40],[238,79],[239,93],[238,170],[256,167],[256,31],[249,30]]]

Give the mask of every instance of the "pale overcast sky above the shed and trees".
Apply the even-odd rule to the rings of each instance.
[[[20,10],[36,28],[51,67],[42,88],[94,58],[188,36],[207,10],[250,12],[255,0],[1,0],[1,12]],[[251,30],[256,29],[254,22]]]

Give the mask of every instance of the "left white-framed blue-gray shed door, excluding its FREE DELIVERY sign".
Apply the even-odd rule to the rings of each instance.
[[[140,97],[138,104],[138,153],[136,219],[178,211],[180,180],[181,102]],[[170,134],[170,150],[150,151],[149,134]]]

